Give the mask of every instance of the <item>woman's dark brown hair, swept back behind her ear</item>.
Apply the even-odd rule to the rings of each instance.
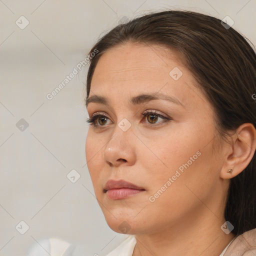
[[[227,29],[228,28],[228,29]],[[90,60],[86,91],[100,56],[125,42],[164,45],[174,49],[212,104],[216,128],[221,137],[226,131],[250,122],[256,127],[256,55],[246,39],[221,20],[191,11],[167,10],[137,17],[119,24],[92,47],[98,53]],[[230,179],[224,217],[241,234],[256,228],[256,157]]]

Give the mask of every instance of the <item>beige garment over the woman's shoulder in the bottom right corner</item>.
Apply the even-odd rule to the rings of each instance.
[[[256,228],[238,235],[228,246],[224,256],[256,255]]]

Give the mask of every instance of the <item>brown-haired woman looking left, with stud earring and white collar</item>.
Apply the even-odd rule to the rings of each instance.
[[[97,54],[93,52],[97,51]],[[256,254],[256,57],[208,15],[119,24],[89,53],[86,160],[108,255]]]

